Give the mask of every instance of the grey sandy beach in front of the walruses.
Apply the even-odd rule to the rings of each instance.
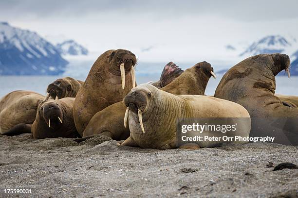
[[[35,140],[0,136],[0,197],[298,196],[298,147],[248,143],[221,148],[119,147],[105,136]],[[272,166],[272,165],[269,165]],[[31,189],[31,194],[4,194]]]

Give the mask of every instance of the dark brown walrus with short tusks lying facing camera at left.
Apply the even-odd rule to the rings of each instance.
[[[80,137],[73,118],[74,101],[75,98],[42,101],[32,124],[33,138]]]

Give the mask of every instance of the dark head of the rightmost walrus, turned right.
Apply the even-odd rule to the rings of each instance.
[[[290,78],[290,57],[287,54],[280,53],[270,54],[270,56],[274,61],[274,65],[271,67],[274,76],[276,76],[280,71],[285,70]]]

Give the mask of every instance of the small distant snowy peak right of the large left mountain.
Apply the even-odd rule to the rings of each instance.
[[[76,43],[74,40],[67,40],[56,45],[63,55],[88,55],[88,49]]]

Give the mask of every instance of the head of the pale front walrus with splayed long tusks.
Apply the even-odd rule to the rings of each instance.
[[[152,89],[149,89],[150,87],[152,87]],[[124,115],[125,127],[129,111],[132,111],[133,113],[138,114],[141,129],[143,133],[145,133],[142,114],[148,111],[150,102],[154,99],[154,97],[156,97],[156,92],[154,91],[155,89],[157,88],[150,84],[145,86],[138,85],[137,87],[131,89],[130,93],[126,95],[123,99],[124,104],[127,107]]]

